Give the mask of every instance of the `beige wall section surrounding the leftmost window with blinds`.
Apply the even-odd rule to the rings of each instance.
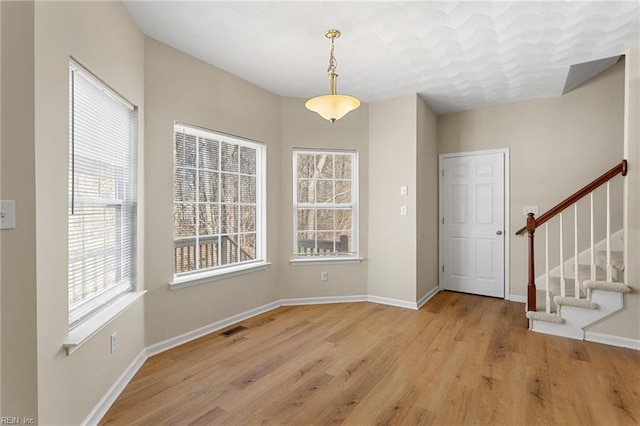
[[[38,414],[42,424],[78,424],[144,348],[144,305],[138,301],[70,356],[67,337],[67,206],[69,57],[138,106],[144,117],[144,36],[122,3],[35,4],[35,208],[38,300]],[[139,152],[144,121],[139,120]],[[143,164],[143,155],[139,155]],[[140,168],[139,175],[144,176]],[[139,180],[144,193],[144,179]],[[144,200],[138,202],[139,241]],[[138,282],[144,283],[144,246]],[[3,258],[3,261],[5,259]],[[35,299],[33,299],[35,300]],[[35,317],[34,317],[35,318]],[[118,350],[110,353],[110,334]]]

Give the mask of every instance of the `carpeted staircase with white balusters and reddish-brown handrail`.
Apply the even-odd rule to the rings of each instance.
[[[522,235],[526,231],[529,237],[526,316],[531,330],[584,340],[585,327],[602,321],[624,307],[624,294],[629,293],[631,288],[624,282],[624,230],[611,232],[610,181],[617,175],[625,176],[626,168],[626,160],[623,160],[538,218],[529,213],[527,225],[516,233]],[[605,224],[596,224],[594,191],[603,185],[606,185],[606,221]],[[579,239],[584,240],[585,236],[579,232],[578,201],[587,196],[590,199],[590,244],[580,253]],[[585,207],[584,203],[582,207]],[[567,232],[564,219],[570,212],[566,210],[573,210],[574,213],[573,258],[568,261],[564,259],[564,255],[570,251],[565,243]],[[547,222],[552,220],[558,222],[558,231],[555,238],[550,239]],[[543,225],[545,273],[536,279],[534,235],[536,229]],[[606,228],[606,232],[604,240],[596,244],[594,236],[597,226]],[[558,266],[550,269],[550,247],[558,246]]]

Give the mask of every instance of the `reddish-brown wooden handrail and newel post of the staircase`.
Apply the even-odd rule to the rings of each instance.
[[[567,197],[565,200],[556,204],[537,218],[533,213],[529,213],[527,215],[527,224],[520,228],[516,235],[522,235],[526,231],[529,236],[528,248],[529,248],[529,268],[528,268],[528,282],[527,282],[527,310],[535,311],[536,310],[536,283],[535,283],[535,262],[534,262],[534,234],[536,228],[543,225],[556,215],[560,214],[562,211],[577,203],[580,199],[589,195],[593,191],[595,191],[601,185],[604,185],[615,176],[621,174],[622,176],[627,175],[627,160],[622,160],[619,164],[616,164],[608,172],[604,173],[599,178],[595,179],[588,185],[585,185],[582,189],[577,191],[575,194]]]

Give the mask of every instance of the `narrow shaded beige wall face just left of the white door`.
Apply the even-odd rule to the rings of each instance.
[[[438,287],[438,116],[419,96],[417,103],[416,301],[419,301]]]

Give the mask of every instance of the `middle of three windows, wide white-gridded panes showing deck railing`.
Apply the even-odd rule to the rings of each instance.
[[[176,277],[264,261],[264,145],[174,127]]]

